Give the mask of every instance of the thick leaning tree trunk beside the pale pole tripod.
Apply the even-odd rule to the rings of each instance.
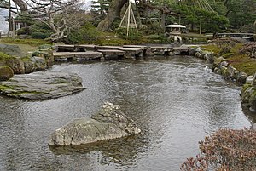
[[[117,17],[120,17],[121,9],[127,2],[128,0],[112,0],[108,9],[108,14],[106,18],[99,23],[98,30],[108,31],[113,21]]]

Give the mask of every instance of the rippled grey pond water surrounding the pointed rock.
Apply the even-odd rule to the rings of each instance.
[[[205,135],[250,126],[240,88],[206,66],[181,56],[55,65],[78,73],[87,89],[55,100],[0,96],[0,170],[178,170]],[[49,149],[49,134],[104,101],[120,105],[143,133]]]

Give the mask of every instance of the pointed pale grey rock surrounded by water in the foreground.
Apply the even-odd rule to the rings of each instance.
[[[133,120],[120,110],[119,105],[107,102],[91,118],[76,119],[55,130],[50,136],[49,145],[82,145],[140,132]]]

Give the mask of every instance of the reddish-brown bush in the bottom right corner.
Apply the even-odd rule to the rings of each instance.
[[[201,154],[190,157],[181,170],[240,171],[256,169],[256,132],[219,129],[200,142]]]

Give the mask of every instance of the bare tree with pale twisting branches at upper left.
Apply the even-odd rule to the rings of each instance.
[[[54,32],[49,39],[53,42],[67,38],[70,31],[84,24],[84,3],[79,0],[32,0],[34,18],[44,22]]]

